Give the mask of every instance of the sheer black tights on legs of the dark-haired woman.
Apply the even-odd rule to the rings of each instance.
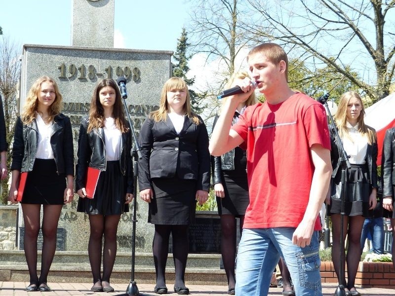
[[[102,282],[110,284],[110,276],[113,272],[115,256],[117,255],[117,229],[119,218],[120,215],[89,215],[90,236],[88,254],[93,275],[93,284],[99,285]],[[100,265],[102,261],[103,234],[103,276],[101,276]]]

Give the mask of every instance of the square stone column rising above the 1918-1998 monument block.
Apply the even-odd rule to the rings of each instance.
[[[73,46],[114,47],[114,1],[73,0]]]

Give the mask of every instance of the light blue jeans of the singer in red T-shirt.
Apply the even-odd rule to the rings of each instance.
[[[292,243],[295,228],[243,229],[238,245],[236,295],[267,296],[279,257],[291,274],[297,296],[322,296],[318,232],[309,246]]]

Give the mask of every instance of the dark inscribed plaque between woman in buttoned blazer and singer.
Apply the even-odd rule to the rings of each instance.
[[[215,218],[196,218],[189,226],[189,253],[221,253],[221,221]]]

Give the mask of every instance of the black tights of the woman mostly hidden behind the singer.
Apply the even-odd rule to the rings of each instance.
[[[244,215],[240,216],[240,234],[243,230]],[[224,263],[228,288],[235,288],[236,259],[236,219],[235,215],[221,215],[221,255]]]

